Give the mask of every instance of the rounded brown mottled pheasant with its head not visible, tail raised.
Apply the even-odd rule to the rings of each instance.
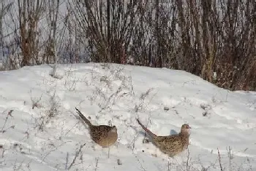
[[[95,143],[99,144],[99,146],[102,147],[109,147],[116,143],[116,140],[118,138],[116,126],[110,127],[108,125],[93,125],[91,124],[91,122],[89,122],[88,119],[86,119],[85,116],[83,116],[78,108],[75,109],[77,110],[80,118],[83,119],[86,124],[88,124],[91,139],[94,140]]]

